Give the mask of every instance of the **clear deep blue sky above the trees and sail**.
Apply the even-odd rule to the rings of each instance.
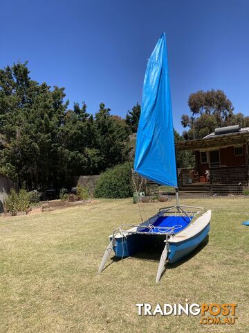
[[[247,0],[1,0],[0,15],[0,68],[28,60],[33,80],[65,87],[70,105],[94,114],[103,102],[125,117],[165,32],[178,132],[200,89],[222,89],[249,115]]]

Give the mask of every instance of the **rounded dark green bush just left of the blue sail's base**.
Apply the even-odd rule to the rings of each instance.
[[[129,162],[102,173],[95,187],[96,198],[128,198],[132,193]]]

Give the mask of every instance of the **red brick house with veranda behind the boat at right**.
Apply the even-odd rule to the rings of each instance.
[[[196,167],[183,169],[179,187],[210,189],[213,194],[242,194],[248,187],[249,128],[216,128],[203,139],[177,142],[176,150],[194,151]]]

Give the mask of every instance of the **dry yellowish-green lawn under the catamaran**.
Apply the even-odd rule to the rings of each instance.
[[[113,261],[97,274],[108,235],[138,223],[132,199],[0,219],[0,332],[248,332],[249,198],[184,199],[212,209],[208,244],[167,266],[160,253]],[[145,203],[149,216],[165,203]],[[138,316],[136,303],[238,304],[234,325],[199,316]]]

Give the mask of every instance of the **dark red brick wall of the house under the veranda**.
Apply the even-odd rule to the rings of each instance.
[[[243,144],[243,155],[234,155],[234,146],[220,148],[221,166],[223,167],[243,167],[246,166],[246,144]],[[205,176],[205,171],[210,169],[209,163],[201,163],[201,153],[195,152],[196,167],[199,171],[199,176]],[[208,156],[209,157],[209,156]]]

